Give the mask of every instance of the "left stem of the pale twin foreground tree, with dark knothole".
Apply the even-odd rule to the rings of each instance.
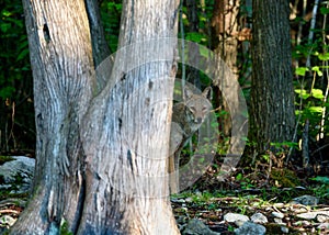
[[[79,126],[94,78],[84,2],[23,4],[34,77],[37,165],[32,200],[11,233],[56,233],[64,220],[76,232],[84,197]]]

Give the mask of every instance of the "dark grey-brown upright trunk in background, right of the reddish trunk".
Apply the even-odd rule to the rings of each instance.
[[[250,135],[258,153],[271,143],[291,142],[294,93],[290,5],[285,0],[254,0]]]

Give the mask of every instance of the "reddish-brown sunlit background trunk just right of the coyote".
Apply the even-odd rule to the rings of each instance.
[[[235,170],[245,148],[248,121],[246,101],[238,82],[238,13],[239,0],[215,1],[212,16],[212,43],[216,59],[214,97],[220,115],[219,145],[226,157],[218,180],[225,180]],[[223,112],[225,111],[225,112]],[[224,113],[224,114],[223,114]],[[229,146],[227,146],[229,145]]]

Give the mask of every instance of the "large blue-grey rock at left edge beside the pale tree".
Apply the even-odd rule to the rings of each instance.
[[[0,189],[11,190],[15,193],[30,191],[34,176],[35,160],[29,157],[13,157],[0,166]]]

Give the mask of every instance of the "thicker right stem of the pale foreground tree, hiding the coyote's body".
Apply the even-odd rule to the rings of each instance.
[[[83,124],[81,234],[179,233],[166,176],[175,41],[161,40],[175,37],[177,10],[177,1],[124,1],[114,70]]]

